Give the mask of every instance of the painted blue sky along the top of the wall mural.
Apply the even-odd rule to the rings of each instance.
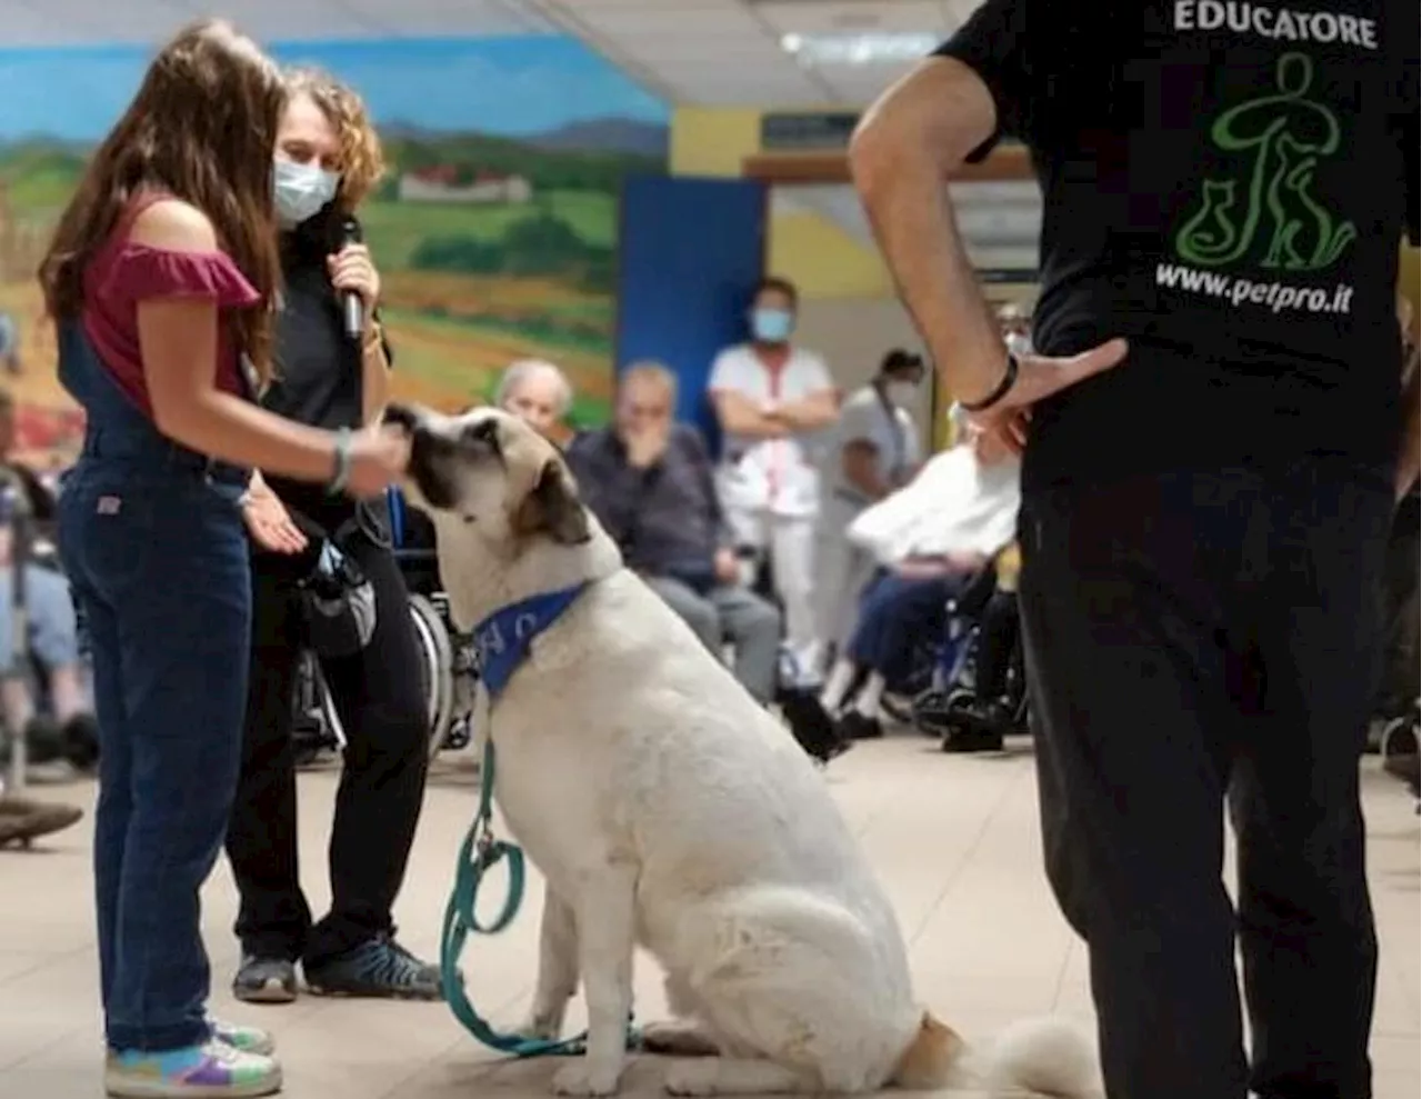
[[[350,81],[380,122],[520,135],[592,118],[665,122],[667,107],[576,38],[274,43]],[[148,64],[144,47],[0,50],[0,141],[102,136]]]

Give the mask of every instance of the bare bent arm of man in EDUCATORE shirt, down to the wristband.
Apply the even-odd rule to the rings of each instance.
[[[894,84],[849,148],[855,186],[909,313],[948,392],[990,394],[1007,351],[958,236],[947,179],[997,129],[978,75],[936,57]]]

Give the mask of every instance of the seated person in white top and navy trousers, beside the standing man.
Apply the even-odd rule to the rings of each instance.
[[[850,526],[849,537],[883,572],[820,695],[846,738],[882,734],[884,692],[919,641],[941,636],[948,600],[1012,542],[1020,502],[1017,458],[997,436],[966,427],[963,442]]]

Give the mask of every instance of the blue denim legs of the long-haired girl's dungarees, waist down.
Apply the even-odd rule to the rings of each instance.
[[[91,634],[100,981],[112,1049],[205,1042],[198,891],[242,756],[252,581],[236,471],[196,455],[85,455],[60,545]]]

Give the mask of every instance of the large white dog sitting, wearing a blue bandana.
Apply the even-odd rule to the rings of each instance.
[[[563,1095],[611,1095],[636,944],[665,968],[675,1095],[941,1086],[964,1044],[913,999],[893,910],[819,772],[638,577],[555,448],[506,414],[395,408],[455,623],[479,627],[499,808],[547,890],[529,1035],[582,978],[586,1056]],[[984,1071],[1095,1090],[1049,1028]],[[983,1071],[974,1073],[983,1075]]]

